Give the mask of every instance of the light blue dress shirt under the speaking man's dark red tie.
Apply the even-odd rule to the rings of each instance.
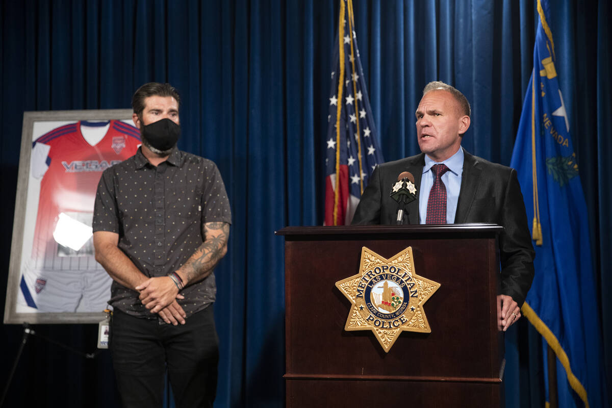
[[[425,224],[425,219],[427,218],[427,200],[429,199],[429,192],[433,186],[433,172],[431,172],[431,166],[441,163],[449,168],[449,171],[442,174],[442,183],[446,186],[446,223],[455,223],[459,190],[461,189],[461,174],[463,174],[463,149],[461,149],[461,147],[459,147],[457,153],[439,163],[431,160],[425,155],[425,166],[421,176],[419,191],[419,221],[421,224]]]

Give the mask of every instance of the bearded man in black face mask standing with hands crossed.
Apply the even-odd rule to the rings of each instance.
[[[132,97],[142,146],[106,169],[94,208],[95,259],[113,278],[110,350],[125,407],[212,407],[218,338],[214,267],[231,212],[211,160],[177,149],[179,94],[147,83]]]

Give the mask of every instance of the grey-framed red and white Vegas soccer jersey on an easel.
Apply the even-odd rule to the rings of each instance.
[[[139,146],[131,109],[24,113],[5,323],[103,318],[111,278],[94,258],[95,192]]]

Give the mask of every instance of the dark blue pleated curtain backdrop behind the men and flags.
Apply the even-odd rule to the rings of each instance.
[[[469,152],[508,165],[532,69],[534,1],[354,0],[383,155],[418,152],[414,111],[431,80],[473,109]],[[605,0],[555,2],[556,67],[591,224],[606,368],[612,374],[612,84]],[[23,111],[128,108],[135,89],[182,94],[181,149],[214,160],[230,195],[230,250],[217,269],[218,407],[284,406],[286,225],[321,224],[329,74],[338,4],[316,0],[2,0],[0,262],[6,287]],[[4,302],[2,302],[4,305]],[[83,351],[92,325],[36,328]],[[4,386],[21,327],[2,325]],[[509,407],[543,406],[539,336],[507,333]],[[609,376],[610,377],[610,376]],[[610,384],[610,380],[608,380]],[[6,406],[117,406],[108,352],[84,359],[31,338]]]

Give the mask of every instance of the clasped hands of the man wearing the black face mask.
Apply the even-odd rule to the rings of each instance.
[[[187,314],[176,302],[176,299],[185,299],[185,297],[179,294],[179,289],[170,276],[149,278],[135,289],[140,292],[138,299],[144,307],[151,310],[151,313],[159,314],[168,324],[175,326],[179,323],[185,324]]]

